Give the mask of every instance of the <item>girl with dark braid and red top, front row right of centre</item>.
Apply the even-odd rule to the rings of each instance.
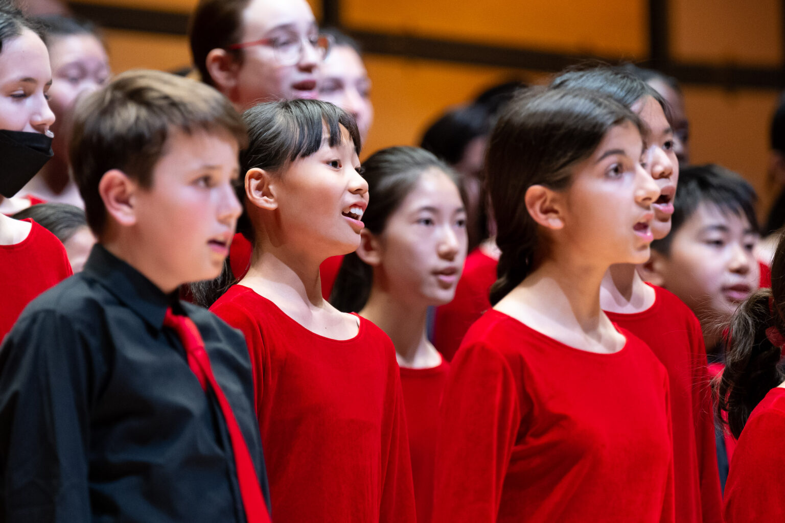
[[[583,90],[525,92],[491,133],[499,278],[451,362],[433,521],[674,521],[666,371],[600,307],[608,267],[649,256],[643,153]]]

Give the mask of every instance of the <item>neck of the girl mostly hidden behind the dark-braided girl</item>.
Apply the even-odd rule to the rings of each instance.
[[[646,285],[633,263],[616,263],[602,278],[600,307],[603,311],[633,314],[652,307],[655,292]]]

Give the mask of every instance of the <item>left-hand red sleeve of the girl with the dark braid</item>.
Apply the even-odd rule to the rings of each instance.
[[[442,401],[433,521],[496,521],[520,419],[506,358],[483,343],[458,350]]]

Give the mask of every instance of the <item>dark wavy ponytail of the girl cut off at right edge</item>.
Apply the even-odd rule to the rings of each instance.
[[[681,189],[680,189],[681,190]],[[728,412],[728,428],[739,438],[755,405],[785,381],[782,349],[766,330],[785,332],[785,242],[780,237],[772,261],[771,289],[758,289],[739,306],[731,320],[725,370],[717,389],[717,413]],[[780,335],[781,336],[781,335]]]

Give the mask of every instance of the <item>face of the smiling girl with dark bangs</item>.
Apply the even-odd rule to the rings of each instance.
[[[368,204],[360,158],[349,132],[340,129],[341,143],[330,147],[325,128],[319,151],[298,158],[272,182],[286,241],[322,260],[357,249]]]

